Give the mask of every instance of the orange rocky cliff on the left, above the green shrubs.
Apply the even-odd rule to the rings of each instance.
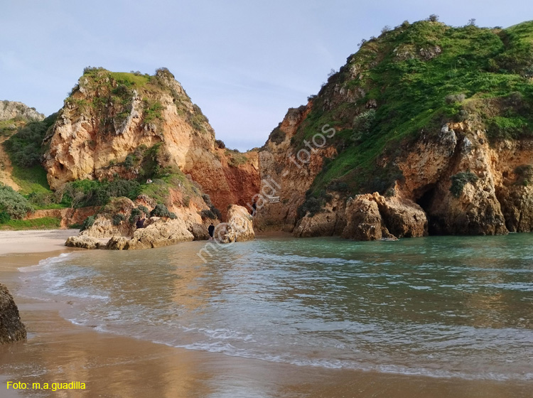
[[[77,180],[144,183],[178,173],[210,195],[223,218],[228,205],[246,205],[259,189],[257,153],[215,143],[208,119],[164,68],[153,76],[86,68],[44,143],[54,190]]]

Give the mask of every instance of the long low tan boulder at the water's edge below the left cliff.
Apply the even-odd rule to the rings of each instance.
[[[146,221],[146,227],[136,230],[131,237],[116,236],[107,242],[107,249],[149,249],[163,247],[178,242],[194,240],[194,236],[187,229],[187,225],[181,218],[174,220],[151,217]]]

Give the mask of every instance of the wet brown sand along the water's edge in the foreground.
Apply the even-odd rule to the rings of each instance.
[[[17,232],[20,233],[20,232]],[[40,232],[32,232],[39,234]],[[63,232],[58,232],[63,233]],[[23,233],[31,239],[31,233]],[[43,235],[38,239],[46,241]],[[18,304],[25,342],[0,347],[0,397],[529,397],[527,382],[468,381],[416,375],[301,367],[172,348],[89,327],[60,317],[70,303],[18,295],[18,267],[58,255],[50,233],[45,252],[0,252],[0,281]],[[0,242],[2,240],[0,235]],[[16,237],[15,237],[16,239]],[[24,246],[24,245],[23,245]],[[26,247],[31,245],[26,244]],[[1,247],[1,243],[0,243]],[[18,246],[21,247],[21,246]],[[28,388],[6,389],[6,382]],[[33,389],[33,383],[83,382],[85,389]]]

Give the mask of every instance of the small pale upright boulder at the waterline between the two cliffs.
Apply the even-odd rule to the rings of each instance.
[[[221,243],[246,242],[254,240],[253,217],[248,210],[232,205],[227,211],[227,222],[215,229],[215,239]]]

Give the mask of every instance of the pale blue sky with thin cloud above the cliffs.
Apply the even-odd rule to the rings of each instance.
[[[0,100],[52,114],[86,66],[166,67],[241,151],[262,146],[362,38],[437,14],[451,26],[531,19],[525,0],[0,0]]]

